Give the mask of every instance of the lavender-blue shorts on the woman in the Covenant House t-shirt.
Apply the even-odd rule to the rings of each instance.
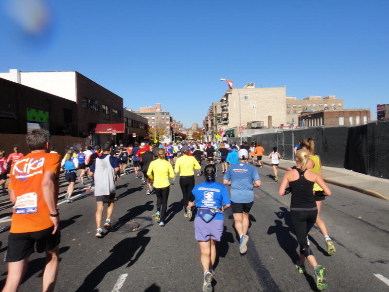
[[[208,223],[200,217],[195,218],[195,238],[197,241],[207,241],[210,237],[220,241],[224,229],[224,220],[212,219]]]

